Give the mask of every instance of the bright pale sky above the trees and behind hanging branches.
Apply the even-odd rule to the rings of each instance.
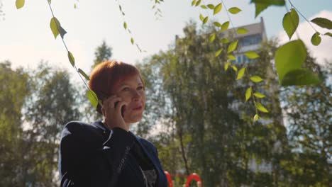
[[[2,0],[2,2],[5,19],[0,19],[0,62],[10,60],[13,67],[33,68],[40,60],[46,60],[74,73],[60,37],[55,40],[50,30],[52,14],[47,0],[26,0],[25,6],[19,10],[16,9],[14,0]],[[107,44],[113,47],[114,59],[135,63],[160,50],[167,50],[168,45],[173,44],[175,35],[183,35],[182,28],[190,19],[201,23],[200,12],[204,16],[212,16],[211,11],[190,6],[191,1],[165,0],[165,3],[160,4],[162,18],[156,21],[151,8],[153,1],[119,2],[126,13],[126,22],[133,33],[133,38],[147,52],[140,53],[131,45],[130,35],[123,29],[123,17],[118,10],[117,1],[52,1],[55,16],[61,26],[67,30],[65,42],[75,57],[77,67],[87,73],[94,59],[94,50],[102,40],[106,40]],[[205,4],[218,2],[204,1]],[[260,22],[260,17],[254,18],[255,8],[249,2],[250,0],[224,0],[227,8],[238,6],[243,10],[237,15],[231,15],[234,26]],[[74,9],[75,3],[77,9]],[[308,19],[322,16],[332,20],[332,0],[292,0],[292,3]],[[221,23],[228,21],[224,8],[215,17]],[[260,14],[264,18],[269,38],[280,35],[282,41],[287,40],[282,31],[284,13],[286,8],[272,7]],[[309,24],[304,23],[303,18],[300,22],[300,37],[307,41],[306,44],[310,45],[309,48],[314,54],[319,55],[321,59],[332,59],[332,38],[323,37],[321,46],[313,47],[309,40],[314,30]],[[314,27],[319,29],[318,26]]]

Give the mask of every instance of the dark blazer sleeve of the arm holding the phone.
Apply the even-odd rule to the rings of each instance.
[[[96,133],[92,125],[82,123],[68,123],[62,130],[59,158],[61,187],[109,186],[109,183],[116,183],[135,137],[126,130],[114,128],[105,141],[101,138],[103,133],[98,131]]]

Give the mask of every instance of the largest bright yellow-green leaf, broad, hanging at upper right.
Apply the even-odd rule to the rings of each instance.
[[[275,53],[275,67],[277,69],[279,83],[282,83],[284,75],[294,69],[300,69],[306,60],[306,47],[302,40],[287,42],[278,48]]]

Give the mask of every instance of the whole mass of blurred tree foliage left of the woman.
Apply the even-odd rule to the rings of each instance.
[[[13,70],[9,62],[0,68],[0,184],[58,186],[60,132],[68,121],[80,118],[79,92],[68,72],[45,62],[33,72]]]

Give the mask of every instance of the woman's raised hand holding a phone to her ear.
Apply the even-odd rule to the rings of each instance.
[[[122,128],[128,132],[129,126],[123,119],[121,115],[121,108],[126,107],[128,103],[122,101],[121,97],[116,95],[110,96],[103,101],[103,107],[101,111],[105,118],[105,125],[107,125],[110,129],[112,128]]]

